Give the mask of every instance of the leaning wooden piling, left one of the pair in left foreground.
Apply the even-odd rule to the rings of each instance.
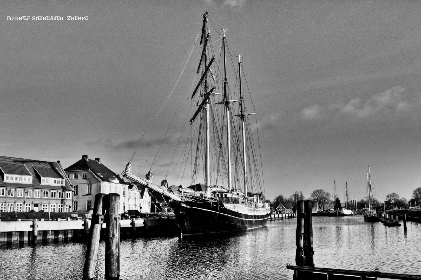
[[[99,235],[101,233],[104,216],[102,216],[102,200],[105,194],[96,194],[93,204],[93,214],[91,220],[91,230],[86,248],[85,266],[83,267],[82,280],[93,279],[96,267],[96,257],[98,256]]]

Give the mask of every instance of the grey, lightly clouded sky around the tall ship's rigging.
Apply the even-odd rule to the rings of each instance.
[[[3,1],[0,154],[64,168],[88,154],[123,171],[205,10],[242,55],[267,199],[333,194],[335,180],[341,199],[347,183],[360,200],[368,166],[378,200],[410,199],[421,186],[419,1]],[[136,153],[136,174],[150,168],[166,110]]]

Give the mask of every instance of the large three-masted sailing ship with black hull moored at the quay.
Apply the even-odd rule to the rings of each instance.
[[[249,116],[255,113],[248,113],[245,104],[241,56],[238,63],[227,63],[227,55],[236,56],[229,52],[226,29],[210,30],[208,21],[206,11],[199,32],[198,66],[193,73],[197,77],[196,86],[189,95],[190,131],[180,134],[185,135],[190,144],[179,149],[184,151],[179,160],[182,166],[179,173],[185,178],[185,170],[191,170],[190,186],[184,188],[180,183],[178,190],[171,191],[166,178],[160,185],[152,183],[151,170],[145,179],[139,178],[132,174],[131,162],[122,172],[129,181],[168,199],[182,235],[258,228],[266,225],[270,215],[263,193],[260,151],[254,148],[255,143],[258,146],[258,139],[252,132],[258,130],[256,126],[250,128]],[[213,42],[211,33],[219,34],[221,39]],[[199,35],[196,42],[198,38]],[[232,84],[227,79],[228,66],[234,73],[230,75]],[[187,158],[192,163],[188,163]]]

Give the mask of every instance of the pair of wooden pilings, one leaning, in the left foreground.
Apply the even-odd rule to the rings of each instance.
[[[86,249],[83,280],[93,279],[98,255],[99,236],[102,224],[106,222],[105,234],[105,275],[107,280],[120,279],[120,195],[97,194],[93,207],[91,229]],[[104,215],[106,212],[107,215]]]

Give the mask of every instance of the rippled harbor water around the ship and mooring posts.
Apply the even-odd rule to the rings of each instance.
[[[240,234],[121,240],[120,279],[292,279],[296,219]],[[421,224],[385,227],[362,216],[313,217],[314,264],[351,270],[421,274]],[[105,243],[95,279],[104,278]],[[85,243],[0,248],[0,279],[81,279]]]

